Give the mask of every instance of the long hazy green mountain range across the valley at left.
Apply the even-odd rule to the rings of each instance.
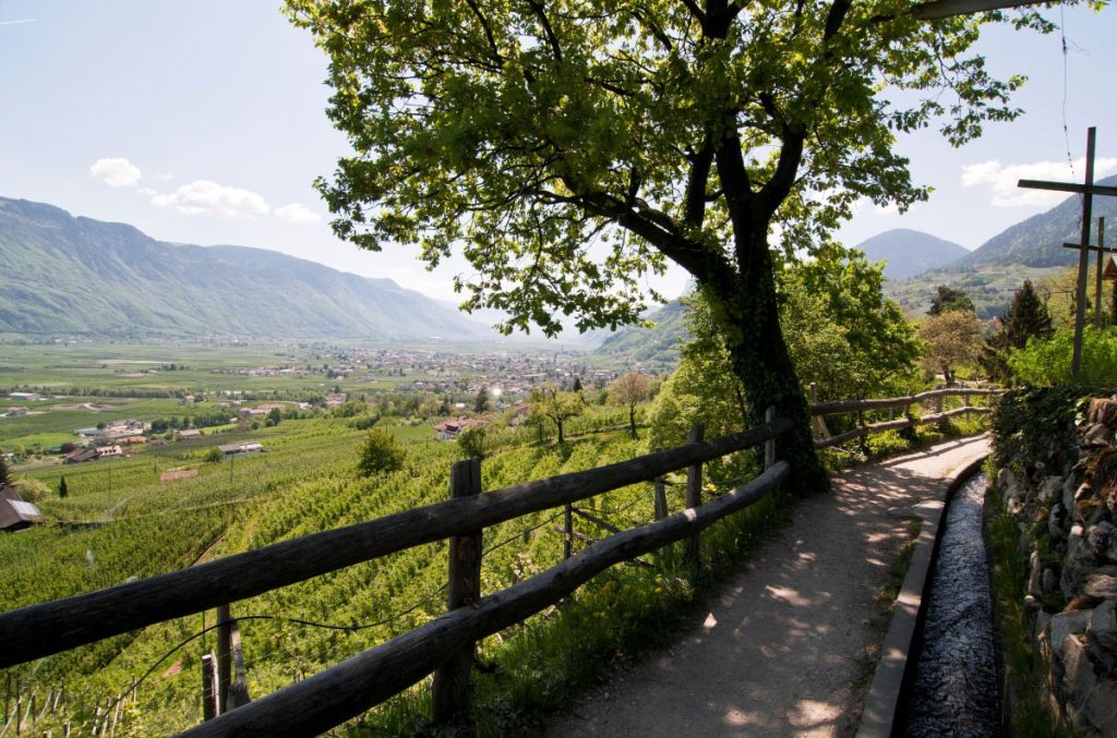
[[[0,198],[0,333],[125,338],[496,339],[391,279],[276,251],[185,246]]]

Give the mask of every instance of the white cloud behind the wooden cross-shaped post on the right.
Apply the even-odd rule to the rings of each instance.
[[[986,186],[993,191],[995,208],[1050,207],[1062,202],[1068,193],[1050,190],[1030,190],[1016,186],[1019,180],[1050,180],[1054,182],[1081,182],[1086,172],[1086,159],[1075,161],[1073,172],[1067,162],[1034,162],[1005,166],[993,159],[980,164],[962,167],[962,185],[966,188]],[[1095,159],[1094,178],[1101,179],[1117,172],[1117,159]]]

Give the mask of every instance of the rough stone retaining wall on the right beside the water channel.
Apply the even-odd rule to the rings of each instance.
[[[1059,713],[1079,730],[1117,737],[1117,396],[1086,406],[1078,461],[1010,459],[997,470],[1005,510],[1030,556],[1025,605]],[[1005,460],[1002,460],[1005,461]]]

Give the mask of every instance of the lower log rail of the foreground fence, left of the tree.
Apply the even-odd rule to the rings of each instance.
[[[309,736],[328,730],[414,684],[446,654],[555,604],[610,566],[682,540],[753,505],[775,489],[787,470],[787,462],[779,461],[750,483],[700,507],[594,544],[531,579],[483,597],[476,607],[449,612],[179,736]]]

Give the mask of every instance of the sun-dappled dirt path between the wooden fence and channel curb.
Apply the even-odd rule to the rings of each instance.
[[[557,719],[569,736],[844,736],[852,682],[884,636],[873,596],[906,511],[986,453],[984,438],[847,470],[803,500],[670,650],[617,674]]]

